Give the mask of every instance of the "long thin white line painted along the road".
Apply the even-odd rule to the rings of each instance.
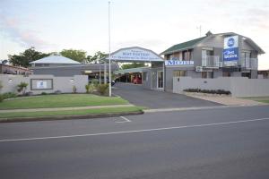
[[[266,117],[266,118],[258,118],[258,119],[249,119],[249,120],[242,120],[242,121],[230,121],[230,122],[215,123],[215,124],[181,125],[181,126],[177,126],[177,127],[165,127],[165,128],[155,128],[155,129],[144,129],[144,130],[135,130],[135,131],[126,131],[126,132],[86,133],[86,134],[79,134],[79,135],[62,135],[62,136],[54,136],[54,137],[6,139],[6,140],[0,140],[0,142],[6,142],[6,141],[38,141],[38,140],[64,139],[64,138],[75,138],[75,137],[86,137],[86,136],[111,135],[111,134],[120,134],[120,133],[153,132],[153,131],[164,131],[164,130],[172,130],[172,129],[206,127],[206,126],[213,126],[213,125],[240,124],[240,123],[249,123],[249,122],[257,122],[257,121],[265,121],[265,120],[269,120],[269,117]]]

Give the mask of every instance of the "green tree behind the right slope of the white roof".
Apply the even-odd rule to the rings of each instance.
[[[67,58],[71,58],[72,60],[80,63],[82,63],[86,59],[86,52],[83,50],[63,49],[60,52],[60,55],[63,55]]]

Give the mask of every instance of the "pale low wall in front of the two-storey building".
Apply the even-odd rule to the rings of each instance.
[[[233,97],[269,96],[268,79],[248,79],[247,77],[220,77],[216,79],[173,78],[173,92],[182,93],[186,89],[230,90]]]

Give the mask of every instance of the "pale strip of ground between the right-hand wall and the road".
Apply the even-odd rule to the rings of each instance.
[[[188,97],[200,98],[208,101],[212,101],[215,103],[219,103],[221,105],[226,106],[261,106],[268,105],[262,102],[257,102],[254,100],[249,100],[245,98],[234,98],[234,97],[211,97],[211,96],[201,96],[195,94],[186,94]]]

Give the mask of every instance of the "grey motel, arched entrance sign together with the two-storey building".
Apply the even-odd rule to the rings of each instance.
[[[142,47],[127,47],[111,54],[114,62],[148,63],[148,68],[116,71],[117,75],[140,72],[145,89],[173,91],[173,78],[218,77],[257,78],[258,55],[265,54],[251,38],[234,32],[213,34],[208,31],[195,38],[169,47],[157,55]],[[108,62],[108,57],[105,58]],[[129,74],[130,75],[130,74]]]

